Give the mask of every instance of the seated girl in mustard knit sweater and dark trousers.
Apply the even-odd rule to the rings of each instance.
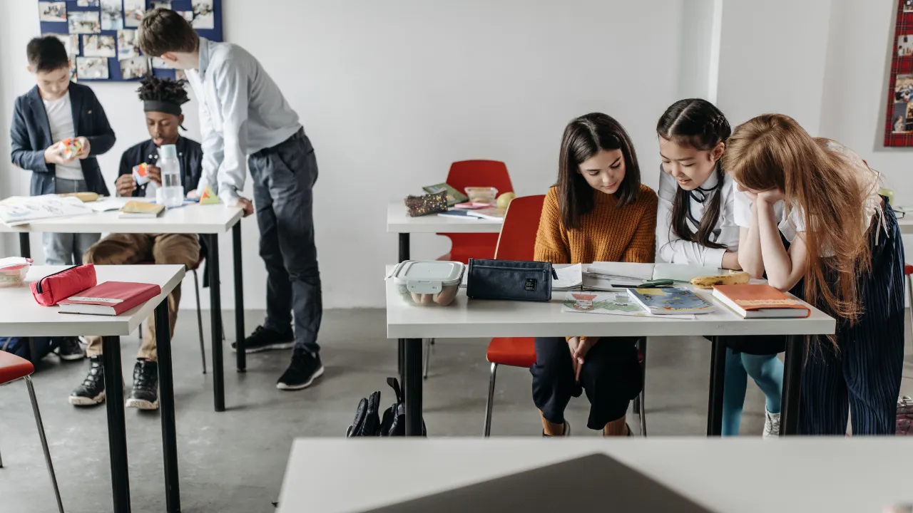
[[[640,183],[631,139],[610,116],[587,114],[564,129],[558,185],[545,197],[535,258],[552,264],[654,261],[656,193]],[[624,417],[641,391],[635,337],[538,338],[532,400],[542,434],[567,436],[564,409],[583,391],[587,426],[606,436],[631,434]]]

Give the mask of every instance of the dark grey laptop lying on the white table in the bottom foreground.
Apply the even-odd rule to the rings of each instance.
[[[710,509],[698,505],[652,477],[604,454],[585,455],[369,511],[711,513]]]

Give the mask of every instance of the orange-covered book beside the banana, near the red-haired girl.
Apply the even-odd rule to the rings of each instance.
[[[812,315],[799,299],[770,285],[717,285],[713,297],[745,319],[806,318]]]

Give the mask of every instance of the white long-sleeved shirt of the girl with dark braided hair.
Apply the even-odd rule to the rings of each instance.
[[[709,189],[719,183],[717,173],[713,173],[707,182],[701,185],[702,189]],[[710,241],[726,246],[727,249],[702,246],[697,242],[683,240],[677,236],[672,225],[672,204],[678,191],[678,183],[669,173],[659,172],[659,209],[656,214],[656,247],[659,248],[659,257],[670,264],[690,264],[705,267],[722,267],[723,255],[729,251],[739,250],[739,225],[734,217],[733,204],[736,193],[732,177],[724,175],[723,184],[719,190],[712,194],[722,194],[719,198],[719,217]],[[700,203],[692,197],[688,198],[691,206],[691,215],[698,221],[704,218],[705,206],[712,201],[712,194],[705,203]],[[698,226],[687,219],[687,225],[692,233],[698,231]]]

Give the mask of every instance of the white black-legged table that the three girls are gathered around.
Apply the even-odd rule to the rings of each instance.
[[[387,267],[387,275],[394,266]],[[584,271],[586,266],[584,266]],[[407,304],[393,280],[386,282],[387,338],[404,339],[404,390],[407,433],[421,433],[422,339],[492,337],[713,337],[710,359],[708,434],[719,434],[722,424],[722,391],[726,348],[716,337],[727,335],[824,335],[836,328],[834,319],[811,306],[808,319],[742,319],[716,299],[710,290],[694,289],[715,304],[713,313],[695,319],[653,319],[617,315],[561,312],[566,292],[555,292],[551,302],[469,301],[461,288],[454,304],[419,307]],[[803,338],[791,337],[786,350],[783,383],[783,433],[798,427],[799,383],[802,379]],[[410,416],[411,412],[411,416]],[[410,418],[412,420],[410,420]],[[415,423],[415,424],[413,424]]]

